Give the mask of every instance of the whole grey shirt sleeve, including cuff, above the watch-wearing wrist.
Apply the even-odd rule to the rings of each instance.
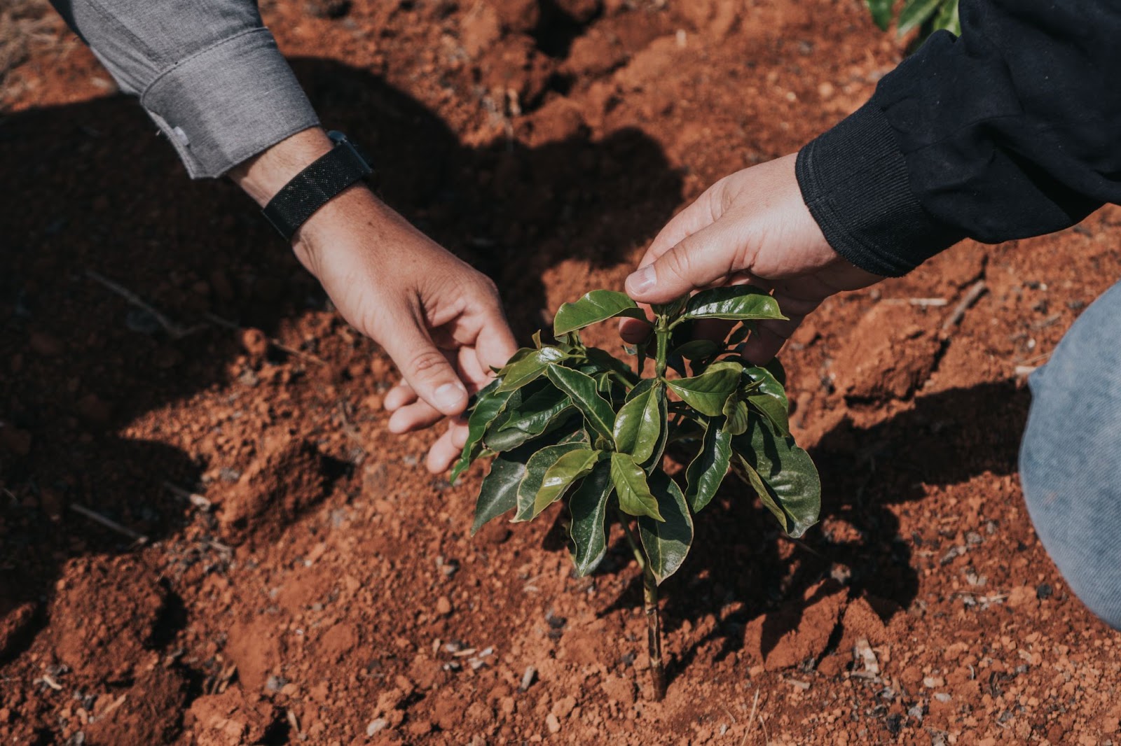
[[[192,178],[318,124],[254,0],[52,0]]]

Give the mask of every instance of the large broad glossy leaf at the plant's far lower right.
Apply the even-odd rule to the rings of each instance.
[[[822,506],[822,482],[813,459],[782,436],[766,418],[752,418],[748,432],[732,438],[732,450],[760,477],[763,489],[760,500],[770,497],[782,529],[800,537],[817,522]],[[750,476],[750,475],[749,475]],[[759,485],[754,485],[759,491]],[[778,509],[778,510],[776,510]]]

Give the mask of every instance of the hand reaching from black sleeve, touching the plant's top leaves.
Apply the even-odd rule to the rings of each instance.
[[[766,363],[807,314],[842,290],[883,278],[855,267],[825,241],[802,198],[795,155],[722,178],[677,214],[650,244],[627,292],[642,304],[669,302],[692,290],[748,282],[773,290],[788,321],[760,321],[742,354]],[[728,328],[710,327],[705,336]],[[637,343],[649,325],[623,319],[623,338]]]

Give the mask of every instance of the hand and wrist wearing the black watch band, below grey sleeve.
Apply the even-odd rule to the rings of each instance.
[[[330,150],[322,130],[293,136],[235,169],[233,179],[266,204],[304,166]],[[391,432],[451,417],[428,451],[433,473],[466,441],[467,399],[517,349],[498,291],[485,276],[438,246],[368,188],[354,185],[296,233],[296,257],[339,313],[380,344],[404,381],[385,400]]]

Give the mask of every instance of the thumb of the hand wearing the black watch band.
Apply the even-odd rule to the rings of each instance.
[[[396,319],[381,344],[393,358],[417,397],[443,414],[455,416],[467,408],[467,389],[447,356],[416,319]]]

